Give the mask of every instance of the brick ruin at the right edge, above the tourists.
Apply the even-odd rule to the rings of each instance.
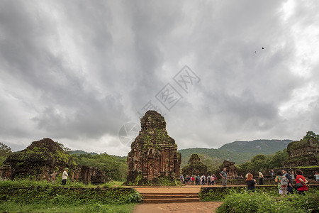
[[[287,146],[289,160],[286,167],[318,165],[319,141],[317,138],[308,137],[301,141],[293,141]]]

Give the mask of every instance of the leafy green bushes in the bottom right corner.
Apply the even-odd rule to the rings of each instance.
[[[319,212],[319,192],[306,192],[305,196],[235,192],[223,200],[217,212]]]

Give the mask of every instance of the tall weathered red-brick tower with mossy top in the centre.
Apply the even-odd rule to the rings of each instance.
[[[174,181],[179,177],[181,154],[167,134],[164,117],[157,111],[147,111],[140,124],[142,129],[128,153],[127,183],[156,183],[160,178]]]

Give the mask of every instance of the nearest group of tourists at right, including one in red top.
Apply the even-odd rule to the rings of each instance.
[[[303,176],[303,172],[301,170],[292,171],[290,174],[287,173],[287,170],[278,170],[276,172],[276,178],[274,181],[278,184],[278,190],[280,195],[286,195],[293,193],[293,185],[292,180],[294,178],[294,174],[296,174],[296,185],[295,188],[297,192],[301,195],[304,194],[305,191],[308,191],[308,180]],[[263,185],[264,175],[259,171],[259,185]],[[315,176],[316,177],[316,176]],[[254,192],[256,181],[253,179],[253,175],[251,173],[247,173],[246,175],[246,185],[248,192]]]

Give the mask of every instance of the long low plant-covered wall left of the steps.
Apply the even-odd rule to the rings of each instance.
[[[128,203],[140,201],[133,188],[75,188],[75,187],[0,187],[0,202],[23,204],[37,202],[101,202]]]

